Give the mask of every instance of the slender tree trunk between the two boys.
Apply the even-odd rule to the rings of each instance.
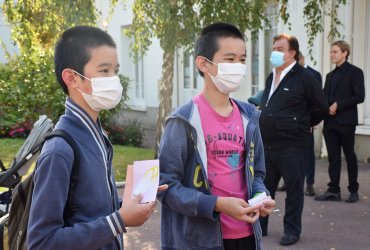
[[[162,79],[159,84],[159,110],[156,129],[155,158],[158,157],[159,142],[164,129],[164,123],[172,110],[172,92],[173,92],[173,70],[174,70],[175,50],[164,50]]]

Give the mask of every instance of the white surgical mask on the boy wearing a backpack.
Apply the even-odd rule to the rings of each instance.
[[[91,95],[82,92],[80,89],[78,91],[82,93],[86,103],[94,111],[112,109],[121,101],[123,88],[117,75],[89,79],[74,70],[73,72],[91,81]]]

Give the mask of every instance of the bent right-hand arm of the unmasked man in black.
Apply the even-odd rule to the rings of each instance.
[[[364,73],[362,70],[355,68],[351,77],[351,88],[352,95],[348,98],[335,100],[336,101],[336,112],[340,112],[347,108],[353,108],[359,103],[362,103],[365,99],[365,83]]]

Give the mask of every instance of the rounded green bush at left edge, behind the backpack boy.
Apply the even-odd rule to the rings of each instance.
[[[56,83],[51,53],[34,49],[0,67],[0,127],[34,122],[40,114],[54,121],[64,110],[65,95]]]

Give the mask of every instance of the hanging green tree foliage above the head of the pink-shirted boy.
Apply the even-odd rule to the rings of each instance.
[[[145,53],[151,38],[160,39],[164,51],[192,49],[200,30],[213,22],[233,23],[241,30],[256,32],[268,22],[265,1],[136,0],[130,34],[134,37],[134,56]],[[233,10],[233,11],[229,11]]]

